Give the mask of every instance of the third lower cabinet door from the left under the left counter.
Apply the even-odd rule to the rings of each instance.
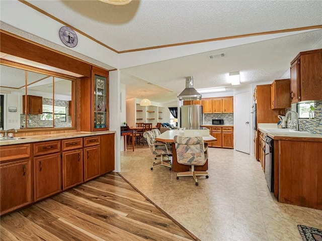
[[[63,190],[84,181],[83,149],[62,153]]]

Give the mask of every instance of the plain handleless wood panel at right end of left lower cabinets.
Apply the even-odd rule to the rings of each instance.
[[[108,134],[100,137],[100,175],[115,169],[114,136],[115,134]]]

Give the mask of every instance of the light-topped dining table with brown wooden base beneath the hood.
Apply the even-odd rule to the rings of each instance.
[[[189,171],[189,168],[190,168],[189,165],[180,164],[177,161],[177,150],[176,150],[176,145],[174,143],[175,142],[174,137],[180,136],[180,135],[183,135],[183,133],[180,132],[179,130],[169,130],[155,137],[155,141],[172,143],[172,171],[173,172],[187,172]],[[217,141],[217,139],[211,135],[202,137],[202,139],[204,143],[211,143],[211,142]],[[208,170],[208,160],[203,166],[195,166],[195,171],[207,171],[207,170]]]

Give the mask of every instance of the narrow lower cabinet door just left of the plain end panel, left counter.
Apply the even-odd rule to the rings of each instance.
[[[100,147],[84,148],[85,181],[100,175]]]

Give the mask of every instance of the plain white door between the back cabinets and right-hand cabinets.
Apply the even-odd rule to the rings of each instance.
[[[238,93],[234,99],[235,150],[250,154],[250,91]]]

